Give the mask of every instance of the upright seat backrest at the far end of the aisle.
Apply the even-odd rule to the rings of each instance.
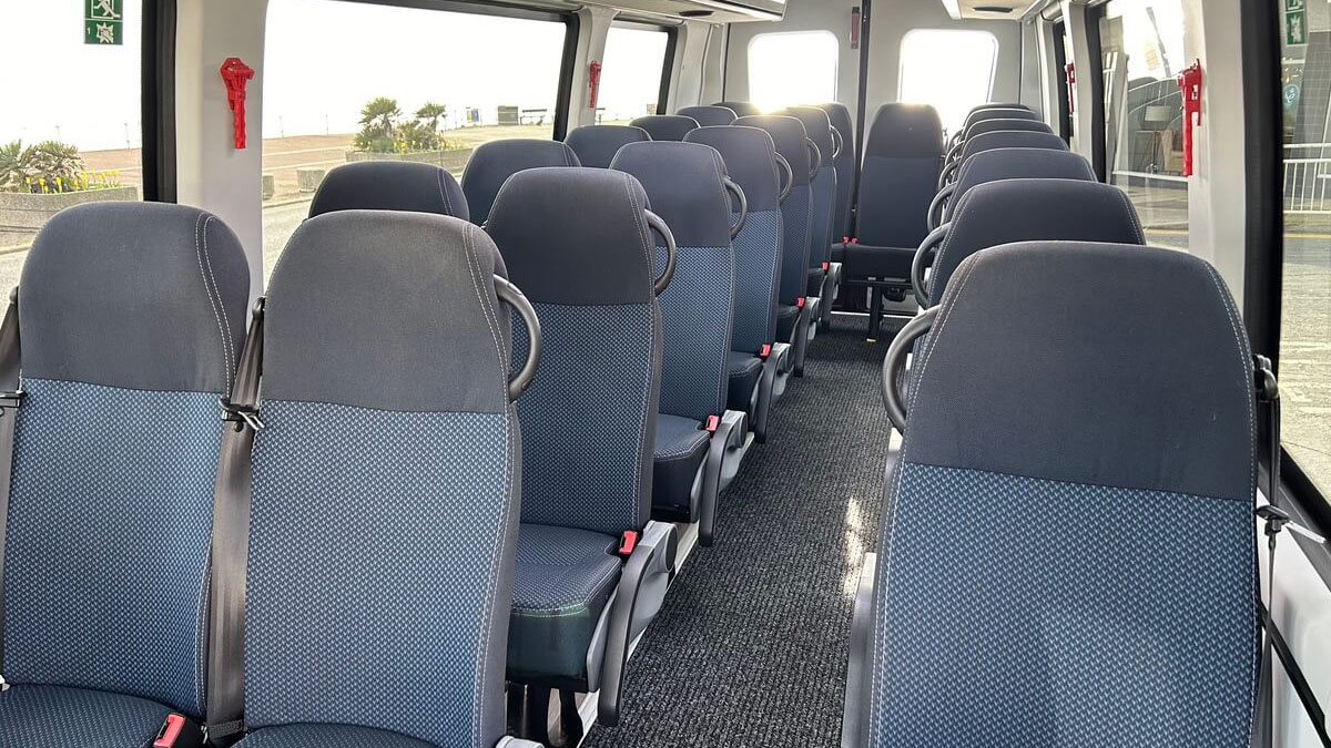
[[[933,106],[880,106],[864,144],[856,228],[860,244],[918,246],[929,230],[929,202],[941,166],[942,122]]]

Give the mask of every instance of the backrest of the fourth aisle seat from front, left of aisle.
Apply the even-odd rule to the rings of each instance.
[[[685,142],[709,145],[744,190],[748,220],[735,246],[735,323],[731,347],[757,353],[776,341],[777,283],[781,278],[781,172],[767,130],[749,126],[699,128]],[[732,222],[739,216],[732,216]]]

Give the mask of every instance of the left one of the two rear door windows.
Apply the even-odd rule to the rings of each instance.
[[[749,41],[749,101],[764,110],[836,101],[840,44],[827,31],[760,33]]]

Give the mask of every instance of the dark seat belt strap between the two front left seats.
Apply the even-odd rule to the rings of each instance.
[[[245,731],[245,572],[249,562],[252,450],[264,361],[264,298],[254,303],[229,398],[222,399],[221,457],[213,491],[208,647],[208,740],[233,743]]]

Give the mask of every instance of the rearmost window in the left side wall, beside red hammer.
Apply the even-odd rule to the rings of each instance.
[[[610,27],[602,56],[598,121],[624,124],[643,114],[664,114],[656,109],[668,45],[669,35],[664,29]]]

